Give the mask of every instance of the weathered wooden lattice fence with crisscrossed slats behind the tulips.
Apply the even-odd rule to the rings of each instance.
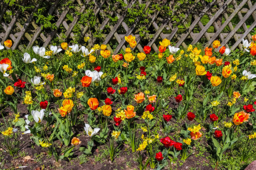
[[[24,0],[25,3],[27,0]],[[138,0],[141,2],[141,0]],[[87,0],[86,3],[89,3],[90,0]],[[131,8],[133,4],[136,2],[136,0],[131,0],[130,2],[127,2],[127,0],[124,0],[124,2],[127,4],[126,10],[128,8]],[[166,2],[166,3],[172,3]],[[196,2],[199,2],[197,0]],[[26,23],[24,25],[21,25],[19,23],[19,17],[21,14],[21,11],[16,11],[15,14],[12,16],[12,20],[10,23],[7,23],[3,16],[7,10],[9,10],[8,5],[6,5],[4,2],[0,3],[1,11],[0,11],[0,40],[1,44],[7,39],[13,40],[13,46],[12,49],[16,49],[17,47],[20,50],[25,50],[25,48],[30,48],[33,45],[42,45],[44,47],[48,46],[51,43],[51,40],[58,36],[61,39],[64,39],[60,36],[58,30],[61,27],[61,25],[66,29],[65,37],[66,40],[72,39],[75,40],[75,34],[72,32],[74,29],[74,26],[78,23],[80,14],[83,13],[86,10],[86,4],[83,4],[80,0],[73,0],[74,4],[77,4],[78,7],[76,7],[76,10],[79,12],[78,15],[74,15],[74,12],[72,12],[72,15],[74,15],[74,19],[71,23],[68,24],[67,22],[67,14],[70,13],[69,7],[65,7],[62,9],[61,13],[59,13],[58,9],[58,3],[59,0],[55,0],[55,3],[49,8],[48,14],[56,15],[58,17],[58,20],[56,21],[56,29],[51,30],[51,32],[45,32],[43,29],[43,25],[37,25],[33,16],[33,13],[37,12],[37,9],[39,7],[39,4],[36,5],[33,9],[33,13],[27,16]],[[151,1],[146,2],[146,8],[152,3]],[[95,2],[95,7],[93,9],[94,15],[98,18],[102,17],[102,11],[103,4],[106,4],[107,6],[108,1],[107,0],[100,0],[100,2]],[[211,7],[213,4],[218,4],[219,8],[218,10],[213,14],[211,12]],[[230,8],[230,4],[233,5],[233,8]],[[246,5],[247,4],[247,5]],[[245,8],[244,6],[248,6],[248,8]],[[192,7],[191,7],[191,10]],[[249,34],[253,28],[256,27],[256,3],[254,1],[254,4],[251,2],[251,0],[242,0],[240,4],[237,4],[236,0],[212,0],[210,4],[205,6],[205,8],[202,10],[200,15],[192,16],[191,23],[187,23],[187,18],[189,17],[189,11],[185,15],[184,20],[182,20],[182,23],[184,24],[185,30],[183,32],[178,33],[178,27],[174,27],[172,24],[171,18],[168,19],[161,19],[161,16],[159,16],[159,11],[155,11],[152,15],[148,15],[148,18],[151,18],[148,25],[146,25],[146,29],[156,30],[154,33],[150,34],[150,39],[148,39],[148,44],[141,44],[141,37],[138,34],[138,30],[136,30],[136,26],[139,24],[139,20],[136,19],[135,22],[131,25],[131,27],[128,26],[128,24],[125,23],[125,15],[119,15],[115,12],[110,12],[109,15],[111,16],[117,16],[118,21],[115,23],[115,25],[110,25],[110,18],[104,18],[102,23],[98,20],[98,28],[97,30],[104,30],[106,25],[110,28],[110,31],[104,32],[103,36],[105,36],[105,40],[103,44],[108,44],[110,40],[116,40],[118,42],[117,47],[113,51],[114,53],[118,53],[121,48],[125,49],[125,36],[128,36],[130,34],[134,35],[136,37],[137,45],[135,48],[137,48],[139,51],[143,52],[143,46],[148,45],[153,48],[154,51],[158,52],[158,43],[159,40],[167,38],[169,40],[176,40],[176,47],[179,47],[182,45],[184,48],[187,48],[187,45],[184,43],[186,39],[191,39],[191,44],[194,45],[195,43],[199,42],[201,38],[205,38],[207,42],[205,43],[206,46],[210,46],[212,42],[216,39],[219,39],[222,42],[222,45],[225,45],[228,47],[227,42],[230,39],[235,40],[235,44],[232,47],[228,47],[231,50],[234,50],[236,47],[239,47],[242,50],[241,41],[243,38],[247,38],[249,42],[251,42],[251,35]],[[207,16],[209,19],[208,23],[206,25],[203,25],[201,22],[201,19],[203,16]],[[252,16],[254,22],[250,25],[248,28],[246,25],[246,20]],[[233,24],[231,20],[234,17],[239,18],[239,22],[237,24]],[[221,20],[219,21],[219,19]],[[225,20],[222,21],[222,18],[225,18]],[[160,22],[159,22],[160,20]],[[188,26],[189,25],[189,26]],[[88,30],[89,26],[79,25],[82,28],[82,36],[88,36],[92,35],[89,34]],[[207,30],[213,26],[215,32],[207,32]],[[122,27],[122,29],[125,30],[124,33],[120,34],[118,33],[118,30]],[[243,32],[237,32],[240,28],[243,28]],[[197,33],[195,32],[195,28],[200,28],[200,31]],[[223,32],[225,28],[229,28],[229,32]],[[17,31],[18,30],[18,31]],[[171,30],[170,33],[164,33],[164,30]],[[151,31],[152,32],[152,31]],[[26,40],[26,41],[23,41]],[[28,44],[24,44],[24,42],[28,42]],[[93,44],[96,42],[96,38],[91,37],[90,38],[90,46],[92,47]],[[25,48],[24,48],[25,47]],[[135,49],[134,48],[134,49]],[[108,45],[108,49],[112,50],[111,47]],[[133,50],[134,50],[133,49]]]

